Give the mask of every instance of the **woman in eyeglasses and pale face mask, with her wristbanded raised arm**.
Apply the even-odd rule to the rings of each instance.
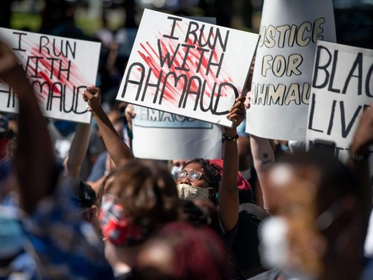
[[[223,169],[213,161],[198,158],[174,174],[182,200],[192,200],[197,205],[209,200],[218,205],[219,228],[228,248],[237,232],[239,216],[237,127],[244,117],[244,97],[239,97],[227,114],[227,118],[233,121],[233,127],[224,127]]]

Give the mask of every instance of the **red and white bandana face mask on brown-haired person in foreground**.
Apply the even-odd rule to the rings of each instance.
[[[147,233],[145,228],[131,223],[129,217],[124,214],[122,205],[115,203],[113,195],[102,197],[99,224],[104,237],[119,246],[138,244]]]

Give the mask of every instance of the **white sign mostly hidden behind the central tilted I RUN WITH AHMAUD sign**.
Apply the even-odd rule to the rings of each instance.
[[[191,160],[221,158],[218,125],[135,106],[132,150],[136,158]]]

